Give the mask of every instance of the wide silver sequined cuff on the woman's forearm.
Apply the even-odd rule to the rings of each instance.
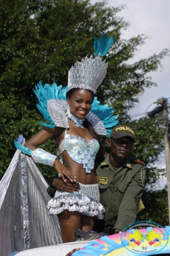
[[[54,166],[57,156],[52,155],[41,148],[36,148],[31,152],[31,158],[35,163],[46,164],[46,166]]]

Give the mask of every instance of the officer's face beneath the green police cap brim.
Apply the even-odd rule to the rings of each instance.
[[[128,158],[133,150],[133,139],[130,137],[122,137],[119,139],[110,138],[107,141],[108,147],[111,148],[112,156],[116,158]]]

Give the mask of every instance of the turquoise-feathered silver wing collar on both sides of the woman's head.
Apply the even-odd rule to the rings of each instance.
[[[37,108],[47,122],[40,122],[41,125],[49,128],[69,127],[66,101],[67,86],[57,86],[56,83],[53,83],[52,86],[45,84],[43,87],[42,83],[39,82],[34,92],[39,100]],[[114,109],[107,104],[99,104],[100,101],[97,101],[97,97],[95,97],[90,114],[87,115],[86,119],[94,127],[97,134],[109,137],[112,127],[118,123],[118,115],[113,116]]]

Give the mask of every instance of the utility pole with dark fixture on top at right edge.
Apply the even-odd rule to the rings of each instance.
[[[168,105],[165,98],[159,98],[157,104],[161,104],[158,108],[152,110],[148,113],[149,117],[154,117],[155,114],[163,111],[163,125],[164,125],[164,144],[165,144],[165,159],[166,159],[166,169],[167,169],[167,190],[168,190],[168,212],[169,212],[169,226],[170,226],[170,147],[168,139]]]

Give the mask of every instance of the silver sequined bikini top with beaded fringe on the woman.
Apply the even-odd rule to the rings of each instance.
[[[99,142],[96,139],[90,139],[89,142],[86,142],[82,137],[67,134],[65,131],[65,138],[59,144],[58,150],[60,154],[66,150],[70,158],[76,163],[83,164],[86,173],[90,174],[91,170],[94,169],[99,147]]]

